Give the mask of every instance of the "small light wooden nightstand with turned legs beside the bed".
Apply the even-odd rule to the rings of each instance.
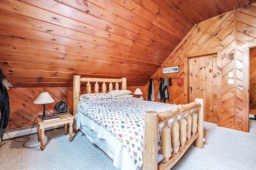
[[[58,125],[64,125],[65,129],[65,135],[68,134],[67,127],[69,124],[69,140],[70,142],[73,140],[72,138],[72,133],[73,133],[73,123],[74,123],[74,116],[69,114],[65,115],[60,115],[60,119],[58,120],[53,120],[53,121],[46,121],[43,122],[42,118],[37,118],[38,121],[38,141],[41,141],[41,150],[44,150],[44,129],[47,127],[53,127],[53,126],[58,126]]]

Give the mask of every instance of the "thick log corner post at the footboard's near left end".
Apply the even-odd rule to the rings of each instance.
[[[158,112],[146,111],[143,170],[157,170]]]

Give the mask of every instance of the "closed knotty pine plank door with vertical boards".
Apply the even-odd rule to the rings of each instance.
[[[217,123],[217,54],[193,57],[189,62],[189,102],[204,99],[204,121]]]

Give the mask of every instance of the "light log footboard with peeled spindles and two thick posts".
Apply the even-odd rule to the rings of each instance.
[[[204,147],[204,101],[196,99],[190,104],[179,105],[175,109],[165,112],[147,111],[145,115],[145,135],[143,152],[143,170],[169,170],[183,156],[194,143],[202,149]],[[185,118],[185,114],[186,118]],[[177,117],[181,116],[178,123]],[[174,119],[172,129],[167,121]],[[162,155],[164,160],[157,162],[158,125],[162,127]],[[171,148],[173,152],[171,153]]]

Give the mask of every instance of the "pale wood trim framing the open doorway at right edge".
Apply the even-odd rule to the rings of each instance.
[[[243,131],[249,131],[250,113],[250,48],[256,47],[256,42],[242,45],[243,52]]]

